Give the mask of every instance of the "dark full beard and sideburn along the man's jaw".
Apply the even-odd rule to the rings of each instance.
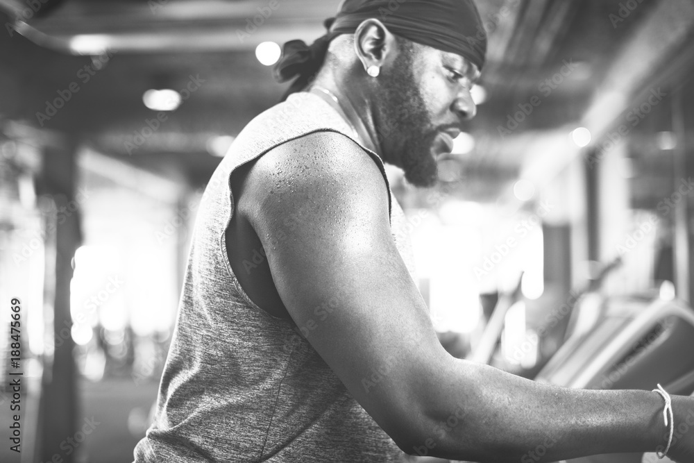
[[[405,171],[405,179],[418,187],[432,187],[439,178],[432,146],[438,135],[431,123],[424,97],[414,77],[414,47],[398,41],[400,56],[393,70],[382,74],[382,98],[376,114],[380,142],[393,149],[384,152],[384,161]]]

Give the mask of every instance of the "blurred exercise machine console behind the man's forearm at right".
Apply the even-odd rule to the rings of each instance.
[[[559,348],[536,380],[583,389],[694,393],[694,312],[681,301],[611,298],[595,328]],[[666,462],[650,454],[593,455],[564,463]]]

